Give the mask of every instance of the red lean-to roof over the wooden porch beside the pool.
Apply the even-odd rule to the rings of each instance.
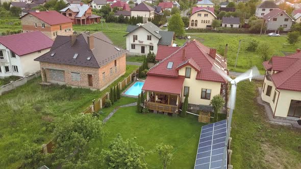
[[[142,90],[180,95],[185,77],[163,77],[148,75]]]

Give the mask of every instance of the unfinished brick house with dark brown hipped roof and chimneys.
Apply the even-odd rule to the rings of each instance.
[[[103,33],[58,36],[40,62],[42,80],[103,90],[126,73],[126,53]]]

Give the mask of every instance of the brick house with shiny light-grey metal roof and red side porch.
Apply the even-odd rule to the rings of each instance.
[[[92,24],[99,23],[101,17],[92,14],[91,5],[87,4],[69,4],[68,7],[60,10],[62,15],[72,20],[73,24]]]

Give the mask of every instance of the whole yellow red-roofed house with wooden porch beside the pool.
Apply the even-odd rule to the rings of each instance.
[[[212,67],[227,73],[227,62],[209,48],[193,40],[182,47],[160,46],[156,60],[160,61],[147,72],[142,90],[147,91],[146,106],[155,111],[178,113],[188,95],[191,105],[209,106],[213,96],[219,95],[227,81]],[[165,105],[166,104],[166,105]],[[168,109],[169,108],[169,109]]]

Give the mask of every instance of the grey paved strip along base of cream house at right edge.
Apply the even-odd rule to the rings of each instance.
[[[261,99],[261,88],[258,88],[258,91],[259,91],[259,96],[256,98],[256,100],[259,104],[264,106],[265,115],[267,116],[270,124],[278,124],[278,125],[290,126],[290,127],[301,129],[301,125],[299,125],[296,120],[274,119],[273,111],[272,111],[271,107]]]

